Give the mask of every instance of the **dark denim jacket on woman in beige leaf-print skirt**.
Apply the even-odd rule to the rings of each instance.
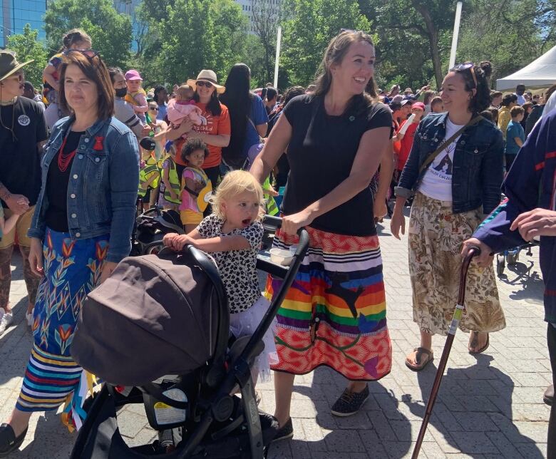
[[[395,188],[396,196],[410,197],[418,190],[428,155],[446,136],[448,113],[427,115],[416,130],[413,147]],[[466,128],[455,145],[452,175],[452,211],[468,212],[483,205],[489,214],[500,203],[504,175],[504,143],[500,130],[488,120]]]

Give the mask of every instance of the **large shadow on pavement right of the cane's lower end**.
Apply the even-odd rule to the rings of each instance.
[[[490,366],[492,356],[480,354],[475,358],[477,363],[474,366],[448,368],[442,378],[428,431],[441,433],[448,445],[470,457],[484,458],[485,455],[503,453],[506,459],[523,458],[524,453],[515,448],[516,444],[523,444],[528,459],[543,458],[535,440],[522,435],[513,423],[514,383],[510,376]],[[404,396],[402,400],[411,413],[421,418],[425,414],[436,370],[431,364],[418,373],[423,401],[413,401],[411,396]]]

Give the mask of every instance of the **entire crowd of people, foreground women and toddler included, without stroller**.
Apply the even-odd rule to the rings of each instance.
[[[280,249],[307,228],[309,252],[257,363],[263,379],[274,370],[275,440],[293,436],[295,375],[334,368],[346,388],[331,411],[350,416],[369,397],[368,381],[391,371],[376,225],[390,213],[399,238],[408,203],[421,341],[406,366],[422,371],[433,361],[432,337],[448,332],[460,260],[473,244],[483,250],[469,270],[460,328],[470,332],[470,353],[486,351],[490,333],[505,327],[491,252],[541,236],[555,369],[556,85],[544,98],[522,85],[491,91],[484,61],[451,68],[438,94],[398,85],[386,93],[376,88],[374,43],[361,31],[341,31],[314,85],[283,94],[271,84],[251,91],[244,63],[223,85],[202,69],[171,90],[143,88],[139,71],[108,68],[84,31],[69,31],[62,44],[40,95],[24,81],[30,62],[0,51],[0,336],[13,321],[15,244],[34,336],[21,393],[0,426],[0,455],[19,448],[34,412],[66,403],[68,425],[83,415],[73,398],[83,368],[71,341],[88,293],[130,253],[138,206],[179,212],[185,234],[167,234],[166,246],[212,253],[237,337],[259,324],[278,287],[269,276],[261,295],[257,280],[262,213],[281,203]],[[555,442],[552,408],[552,458]]]

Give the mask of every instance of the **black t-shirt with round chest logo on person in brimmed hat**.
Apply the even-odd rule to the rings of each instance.
[[[24,195],[29,205],[35,205],[41,191],[37,143],[48,138],[43,109],[34,100],[18,97],[13,105],[2,105],[0,115],[0,182],[12,194]],[[2,205],[7,207],[4,201]]]

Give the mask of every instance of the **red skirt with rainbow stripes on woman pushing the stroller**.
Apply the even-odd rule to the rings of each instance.
[[[276,371],[305,374],[329,366],[346,378],[373,381],[391,370],[379,239],[308,228],[310,245],[277,314]],[[281,232],[274,246],[297,237]],[[267,297],[281,285],[267,279]]]

